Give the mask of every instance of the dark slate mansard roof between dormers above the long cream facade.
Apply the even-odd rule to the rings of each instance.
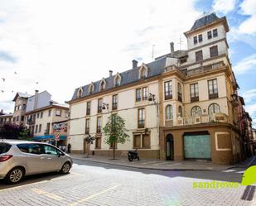
[[[162,72],[164,71],[164,68],[166,66],[166,59],[167,58],[165,57],[165,58],[162,58],[160,60],[155,60],[155,61],[152,61],[151,63],[146,64],[147,68],[148,68],[147,78],[162,74]],[[124,72],[120,73],[120,75],[122,77],[122,81],[121,81],[120,86],[123,86],[123,85],[126,85],[126,84],[131,84],[131,83],[139,81],[140,80],[140,79],[138,79],[139,68],[140,68],[140,66],[138,66],[137,68],[129,69],[127,71],[124,71]],[[104,89],[104,91],[116,88],[116,86],[114,85],[114,76],[109,76],[108,78],[105,78],[106,88]],[[100,88],[99,88],[99,83],[101,82],[101,80],[102,79],[93,83],[94,84],[94,91],[91,94],[101,92]],[[80,88],[75,89],[75,93],[73,94],[72,100],[77,99],[77,97],[78,97],[77,93],[78,93],[79,89]],[[82,89],[83,89],[83,93],[82,93],[81,98],[91,95],[89,93],[89,84],[83,86]]]

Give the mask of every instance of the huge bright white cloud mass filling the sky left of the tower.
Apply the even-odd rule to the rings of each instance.
[[[152,45],[155,57],[169,52],[170,41],[179,49],[180,35],[186,42],[183,32],[199,16],[195,1],[2,0],[1,50],[17,62],[0,60],[0,78],[7,78],[0,108],[12,91],[47,90],[64,102],[109,69],[115,74],[131,69],[133,59],[151,61]]]

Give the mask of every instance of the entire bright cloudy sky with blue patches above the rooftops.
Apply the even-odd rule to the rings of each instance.
[[[0,108],[12,113],[15,93],[35,89],[64,103],[109,69],[169,53],[171,41],[185,50],[183,33],[204,12],[227,17],[229,58],[256,127],[255,0],[0,0]]]

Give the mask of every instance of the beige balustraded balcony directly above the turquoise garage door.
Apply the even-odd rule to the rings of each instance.
[[[201,115],[196,117],[177,117],[176,120],[166,120],[166,127],[187,126],[213,122],[229,122],[229,117],[225,113],[214,113],[211,115]]]

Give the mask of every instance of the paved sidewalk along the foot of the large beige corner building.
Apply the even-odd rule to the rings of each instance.
[[[217,165],[206,160],[183,160],[183,161],[167,161],[167,160],[133,160],[129,162],[127,158],[118,157],[117,160],[111,160],[109,156],[89,156],[71,154],[75,160],[85,160],[99,162],[109,165],[121,165],[147,170],[227,170],[233,167],[245,166],[245,163],[239,165]],[[255,157],[255,156],[254,156]],[[248,164],[248,160],[247,160]]]

